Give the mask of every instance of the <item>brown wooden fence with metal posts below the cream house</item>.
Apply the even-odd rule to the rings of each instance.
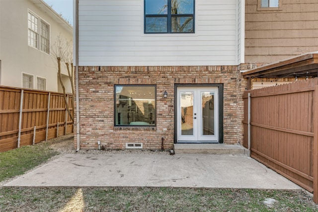
[[[63,94],[0,86],[0,152],[72,132]]]

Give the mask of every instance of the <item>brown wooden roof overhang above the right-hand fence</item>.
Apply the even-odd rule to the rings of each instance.
[[[263,65],[245,72],[244,78],[249,77],[295,77],[295,76],[318,76],[318,52],[289,58],[283,61]]]

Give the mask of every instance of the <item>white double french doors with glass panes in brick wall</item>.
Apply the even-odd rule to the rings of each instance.
[[[177,87],[177,142],[219,142],[218,87]]]

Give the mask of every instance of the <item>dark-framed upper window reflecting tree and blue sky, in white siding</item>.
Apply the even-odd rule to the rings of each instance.
[[[145,33],[194,33],[195,0],[144,0]]]

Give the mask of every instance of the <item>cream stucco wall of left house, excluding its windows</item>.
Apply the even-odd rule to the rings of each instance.
[[[14,9],[13,9],[14,8]],[[73,31],[58,14],[52,13],[41,0],[0,0],[0,85],[22,87],[22,72],[46,79],[46,90],[61,91],[58,86],[57,62],[51,55],[28,46],[28,10],[50,25],[50,42],[61,34],[73,40]],[[63,73],[67,71],[63,69]],[[71,92],[70,87],[67,92]]]

